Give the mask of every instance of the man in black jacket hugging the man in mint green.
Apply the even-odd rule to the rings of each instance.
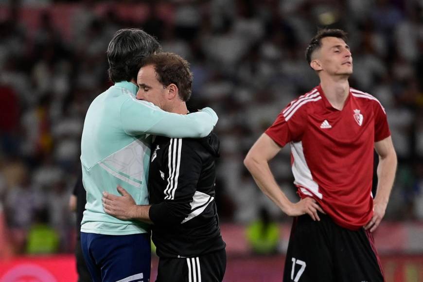
[[[192,73],[188,62],[173,53],[151,56],[138,72],[137,97],[163,110],[188,114]],[[190,109],[192,112],[192,110]],[[219,140],[156,137],[149,171],[150,205],[136,205],[122,196],[104,194],[105,212],[117,218],[152,223],[159,255],[158,282],[220,282],[226,268],[225,243],[218,225],[215,158]]]

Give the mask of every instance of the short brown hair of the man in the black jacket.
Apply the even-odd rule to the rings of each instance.
[[[163,86],[175,84],[178,88],[179,97],[187,102],[191,98],[193,86],[193,73],[190,64],[175,53],[153,54],[143,61],[143,66],[152,65],[157,74],[157,79]]]

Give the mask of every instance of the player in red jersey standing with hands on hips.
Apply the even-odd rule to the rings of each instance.
[[[264,194],[294,216],[284,282],[384,281],[371,232],[385,214],[397,159],[385,109],[350,88],[346,39],[342,30],[317,33],[306,58],[320,85],[286,106],[244,160]],[[268,165],[287,143],[298,203],[288,200]],[[373,148],[379,155],[374,198]]]

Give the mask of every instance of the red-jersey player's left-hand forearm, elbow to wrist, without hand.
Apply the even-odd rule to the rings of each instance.
[[[288,213],[292,203],[276,183],[268,162],[265,160],[256,160],[247,156],[244,164],[253,176],[260,190],[262,190],[263,193],[282,210],[282,212]]]

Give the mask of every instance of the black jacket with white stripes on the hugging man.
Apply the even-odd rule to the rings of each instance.
[[[159,257],[195,257],[224,248],[214,201],[217,136],[157,136],[151,149],[149,216]]]

